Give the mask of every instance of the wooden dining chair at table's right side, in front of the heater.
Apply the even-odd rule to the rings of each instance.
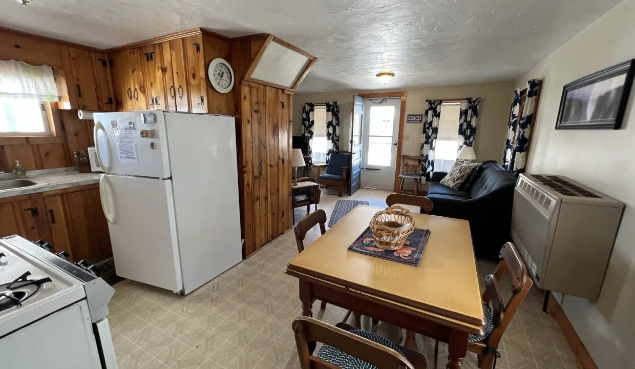
[[[514,313],[523,303],[525,297],[533,281],[528,277],[525,263],[518,255],[516,246],[508,242],[503,245],[498,253],[500,262],[494,274],[490,274],[485,278],[485,292],[483,292],[483,308],[485,310],[485,318],[491,324],[490,332],[486,329],[483,336],[470,335],[467,351],[474,352],[478,358],[478,366],[481,369],[491,369],[498,354],[498,344],[505,333],[505,328],[514,318]],[[502,278],[505,270],[509,272],[511,277],[512,296],[505,304],[501,295],[498,282]],[[491,302],[491,308],[489,304]],[[488,305],[488,307],[485,307]],[[490,310],[490,314],[488,314]],[[434,368],[437,365],[437,356],[439,354],[439,341],[434,343]]]

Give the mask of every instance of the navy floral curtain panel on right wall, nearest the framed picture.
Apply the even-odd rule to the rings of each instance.
[[[527,151],[531,140],[531,125],[536,114],[541,84],[542,81],[540,79],[531,79],[527,82],[527,97],[525,98],[525,104],[523,104],[523,113],[518,121],[516,143],[512,150],[510,169],[508,169],[516,177],[525,171]]]

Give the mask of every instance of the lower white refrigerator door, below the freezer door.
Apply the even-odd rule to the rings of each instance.
[[[100,193],[117,275],[180,292],[171,180],[103,176]]]

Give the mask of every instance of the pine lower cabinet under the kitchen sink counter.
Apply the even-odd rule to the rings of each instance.
[[[54,252],[68,252],[73,262],[97,262],[112,255],[97,184],[0,200],[0,237],[43,239]]]

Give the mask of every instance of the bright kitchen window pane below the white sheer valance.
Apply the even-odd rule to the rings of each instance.
[[[0,97],[0,137],[50,135],[46,102],[35,98]]]

